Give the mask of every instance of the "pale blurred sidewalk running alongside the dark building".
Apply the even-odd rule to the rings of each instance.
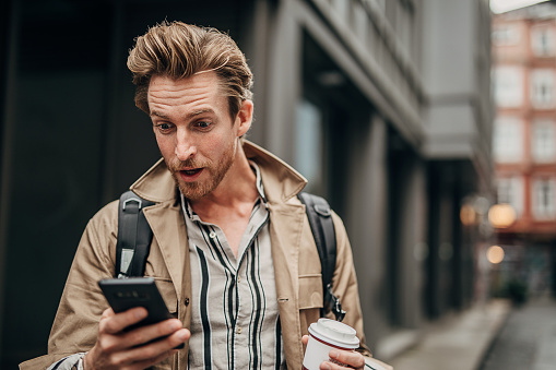
[[[510,310],[508,301],[493,300],[441,320],[388,362],[394,370],[476,370]]]

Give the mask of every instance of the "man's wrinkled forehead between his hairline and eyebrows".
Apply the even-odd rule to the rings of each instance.
[[[167,75],[154,75],[149,84],[147,100],[151,109],[199,105],[225,108],[227,102],[213,71],[178,80]]]

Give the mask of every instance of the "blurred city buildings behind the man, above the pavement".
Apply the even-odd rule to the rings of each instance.
[[[159,157],[126,59],[163,20],[245,51],[248,139],[343,217],[377,357],[453,312],[554,294],[555,5],[495,7],[2,1],[0,368],[46,353],[87,220]]]

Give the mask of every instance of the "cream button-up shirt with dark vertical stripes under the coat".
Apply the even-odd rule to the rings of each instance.
[[[281,369],[280,327],[269,211],[257,165],[259,198],[237,258],[222,229],[204,223],[181,196],[191,265],[190,369]]]

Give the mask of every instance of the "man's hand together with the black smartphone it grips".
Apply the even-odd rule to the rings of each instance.
[[[98,285],[111,309],[103,313],[96,343],[83,357],[84,369],[146,369],[176,354],[191,336],[169,313],[153,278]]]

